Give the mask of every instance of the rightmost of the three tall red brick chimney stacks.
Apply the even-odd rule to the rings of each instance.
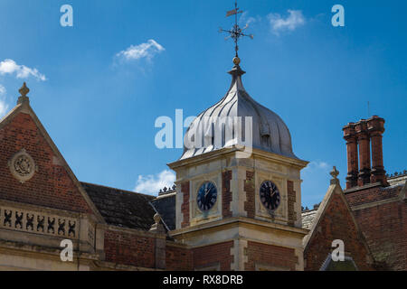
[[[381,117],[371,117],[367,120],[367,129],[372,140],[372,175],[370,180],[387,184],[386,172],[383,167],[383,132],[384,119]]]

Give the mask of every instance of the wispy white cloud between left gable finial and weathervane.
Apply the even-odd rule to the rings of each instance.
[[[118,52],[116,56],[125,61],[137,61],[142,58],[146,58],[150,61],[157,53],[165,50],[166,49],[155,40],[150,39],[146,43],[131,45],[127,50]]]

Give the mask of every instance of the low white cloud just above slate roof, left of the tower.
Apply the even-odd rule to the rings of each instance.
[[[170,188],[175,182],[175,172],[164,170],[156,175],[138,175],[134,191],[156,195],[164,187]]]

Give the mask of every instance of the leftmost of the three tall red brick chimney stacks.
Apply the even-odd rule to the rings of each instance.
[[[347,126],[344,127],[343,130],[347,152],[346,189],[350,189],[357,186],[357,176],[359,171],[355,124],[349,123]]]

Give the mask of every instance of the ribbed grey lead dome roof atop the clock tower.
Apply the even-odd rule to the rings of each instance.
[[[252,117],[253,148],[297,158],[292,151],[289,128],[276,113],[261,106],[247,93],[241,82],[241,76],[245,72],[241,70],[239,64],[236,64],[229,73],[232,75],[232,85],[226,95],[213,107],[204,110],[188,127],[184,140],[184,154],[180,160],[236,144],[228,142],[226,130],[232,132],[232,136],[236,136],[235,132],[241,132],[242,139],[245,139],[244,120],[241,127],[232,123],[221,128],[217,121],[222,117]],[[222,143],[214,140],[215,132],[222,135]],[[197,141],[198,139],[202,140]],[[193,145],[196,143],[202,145]]]

